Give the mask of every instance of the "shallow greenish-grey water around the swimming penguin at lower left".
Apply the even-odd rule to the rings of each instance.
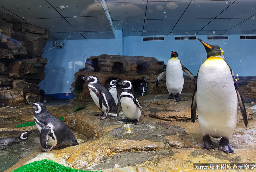
[[[20,133],[22,132],[0,132],[0,138],[19,137]],[[29,134],[28,140],[20,142],[16,145],[12,145],[7,149],[0,150],[0,172],[12,167],[18,161],[32,154],[37,148],[41,147],[39,135],[39,131],[34,131],[33,133]],[[0,149],[4,147],[5,146],[0,145]]]

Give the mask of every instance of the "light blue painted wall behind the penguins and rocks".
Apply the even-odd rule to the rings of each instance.
[[[56,94],[56,98],[72,98],[74,73],[84,68],[87,58],[100,54],[151,56],[166,64],[170,52],[177,51],[180,61],[193,75],[197,75],[207,58],[204,46],[198,40],[175,41],[174,36],[164,36],[164,41],[142,42],[141,36],[123,37],[121,30],[116,31],[115,36],[116,39],[66,40],[63,49],[55,47],[44,51],[43,57],[48,59],[48,63],[44,70],[45,79],[39,83],[40,89],[46,94]],[[229,35],[228,40],[207,40],[206,35],[197,35],[197,38],[219,45],[235,75],[256,75],[256,40],[240,40],[240,35]],[[44,50],[52,48],[52,45],[53,42],[48,41]]]

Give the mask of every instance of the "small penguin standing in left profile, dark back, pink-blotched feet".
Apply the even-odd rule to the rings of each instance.
[[[97,114],[97,116],[101,116],[105,112],[105,116],[100,117],[99,119],[107,118],[109,112],[117,113],[115,99],[112,97],[110,92],[100,84],[97,76],[91,75],[89,77],[82,77],[81,79],[89,82],[88,88],[90,95],[94,103],[98,108],[100,108],[100,110],[102,110],[101,114]]]

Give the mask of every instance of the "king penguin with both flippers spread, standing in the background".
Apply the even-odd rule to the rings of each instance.
[[[169,99],[175,97],[176,101],[179,102],[180,93],[184,84],[183,71],[190,77],[194,85],[196,85],[196,80],[193,74],[185,68],[182,62],[178,59],[178,53],[176,51],[172,51],[171,57],[172,58],[166,64],[166,71],[157,76],[156,86],[158,86],[161,79],[166,75],[166,87],[169,92]]]

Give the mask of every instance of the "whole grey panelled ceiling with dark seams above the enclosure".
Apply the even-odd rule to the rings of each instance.
[[[68,39],[111,39],[114,28],[124,36],[256,33],[255,0],[1,1],[0,14],[46,28],[48,40],[64,40],[73,32]]]

